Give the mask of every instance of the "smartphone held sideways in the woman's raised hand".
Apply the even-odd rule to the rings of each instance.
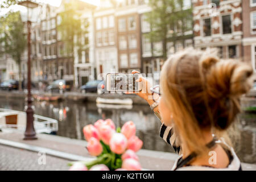
[[[141,82],[136,82],[141,73],[108,73],[106,75],[106,89],[109,92],[141,91]]]

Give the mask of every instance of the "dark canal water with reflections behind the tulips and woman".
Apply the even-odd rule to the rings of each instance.
[[[1,108],[23,111],[24,106],[23,99],[0,98]],[[137,136],[143,140],[144,149],[174,152],[170,145],[159,137],[161,123],[146,105],[114,108],[92,102],[34,101],[34,106],[35,114],[59,121],[59,136],[84,139],[82,127],[101,118],[112,118],[117,127],[131,120],[137,126]],[[256,114],[241,114],[240,118],[235,129],[236,135],[233,137],[234,149],[242,162],[256,164]]]

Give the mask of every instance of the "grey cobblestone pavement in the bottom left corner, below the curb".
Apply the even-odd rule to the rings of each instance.
[[[0,170],[1,171],[56,171],[68,170],[68,160],[56,158],[46,154],[43,155],[19,148],[0,145]],[[40,160],[41,159],[41,160]],[[44,161],[46,164],[43,164]],[[39,164],[40,163],[40,164]]]

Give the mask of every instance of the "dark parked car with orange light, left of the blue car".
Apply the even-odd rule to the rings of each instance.
[[[72,85],[71,81],[55,80],[47,86],[46,91],[48,92],[70,91],[71,85]]]

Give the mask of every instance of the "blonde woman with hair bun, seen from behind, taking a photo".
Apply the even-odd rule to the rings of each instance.
[[[173,170],[241,170],[226,130],[240,113],[252,73],[240,61],[220,61],[211,49],[187,49],[164,63],[160,97],[144,78],[137,80],[146,88],[138,96],[162,122],[160,137],[180,155]]]

